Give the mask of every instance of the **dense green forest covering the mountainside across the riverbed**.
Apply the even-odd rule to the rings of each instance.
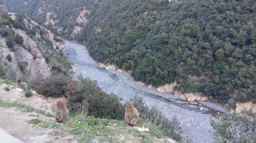
[[[0,2],[39,18],[44,16],[37,9],[51,4],[47,10],[57,13],[68,34],[76,24],[69,18],[91,6],[76,40],[97,61],[132,70],[135,80],[155,87],[177,81],[176,90],[201,92],[220,103],[256,102],[253,0],[23,0],[16,7],[15,0]]]

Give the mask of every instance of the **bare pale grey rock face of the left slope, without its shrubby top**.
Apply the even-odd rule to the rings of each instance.
[[[16,17],[12,15],[11,18]],[[15,72],[17,78],[22,78],[24,73],[29,71],[32,77],[46,78],[51,75],[50,70],[53,65],[68,70],[68,62],[61,57],[67,54],[65,41],[60,37],[57,37],[58,40],[55,41],[54,34],[44,26],[26,15],[23,18],[23,26],[26,26],[27,30],[34,28],[36,31],[33,35],[13,26],[2,27],[6,31],[12,31],[14,39],[19,35],[24,40],[23,44],[13,42],[14,46],[10,49],[6,45],[7,37],[0,36],[0,66],[5,68],[5,72],[10,69],[12,73]],[[7,55],[11,56],[11,60],[7,60]],[[62,65],[60,61],[64,64]]]

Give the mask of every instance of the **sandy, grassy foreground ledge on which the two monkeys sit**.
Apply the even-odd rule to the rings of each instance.
[[[58,100],[67,101],[66,98],[45,98],[35,92],[26,97],[23,89],[5,81],[0,78],[0,127],[24,142],[176,142],[166,138],[154,124],[144,121],[138,128],[120,120],[73,114],[64,124],[56,123],[55,104]],[[10,91],[5,91],[6,87]]]

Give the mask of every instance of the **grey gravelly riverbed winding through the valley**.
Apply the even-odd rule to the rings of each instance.
[[[98,86],[106,93],[115,93],[125,103],[135,95],[142,96],[150,107],[157,107],[168,118],[176,116],[183,129],[183,136],[194,142],[212,142],[214,130],[210,119],[218,120],[220,113],[228,112],[221,106],[210,102],[186,101],[171,94],[164,94],[148,89],[134,81],[133,77],[98,67],[86,47],[74,42],[66,42],[67,58],[74,63],[73,77],[83,75],[98,82]],[[200,109],[200,107],[202,107]]]

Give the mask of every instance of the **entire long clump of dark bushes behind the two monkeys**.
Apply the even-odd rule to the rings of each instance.
[[[78,77],[78,81],[65,75],[53,73],[46,79],[32,79],[28,89],[46,97],[69,97],[71,112],[88,112],[89,116],[99,118],[119,119],[124,117],[124,106],[114,94],[106,94],[97,87],[96,81],[89,78]],[[83,110],[86,107],[86,110]]]

